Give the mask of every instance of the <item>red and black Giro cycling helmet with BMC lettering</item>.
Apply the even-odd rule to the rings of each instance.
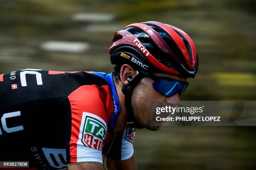
[[[130,64],[143,72],[195,77],[198,58],[192,39],[172,25],[149,21],[127,25],[109,46],[111,63]]]

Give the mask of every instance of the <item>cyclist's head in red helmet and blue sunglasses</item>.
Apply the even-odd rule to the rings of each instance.
[[[150,112],[152,100],[179,102],[179,96],[188,85],[184,81],[195,77],[198,68],[191,38],[179,28],[155,21],[134,23],[116,32],[109,53],[115,65],[115,80],[127,79],[127,75],[122,75],[125,69],[133,70],[132,77],[143,75],[134,86],[131,100],[135,118],[139,112],[144,116],[145,112]],[[153,86],[148,86],[148,82]],[[128,84],[123,83],[124,86]],[[139,123],[147,126],[146,122]]]

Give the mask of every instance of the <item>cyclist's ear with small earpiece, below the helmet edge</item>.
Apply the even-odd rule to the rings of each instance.
[[[128,85],[133,77],[136,76],[136,70],[131,65],[124,64],[120,70],[120,79],[123,85]]]

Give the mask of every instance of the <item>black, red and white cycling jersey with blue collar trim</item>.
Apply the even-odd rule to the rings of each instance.
[[[133,155],[134,129],[113,132],[120,112],[112,74],[26,69],[0,75],[0,161],[38,169]]]

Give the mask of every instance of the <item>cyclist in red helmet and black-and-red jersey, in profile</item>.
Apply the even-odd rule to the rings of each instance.
[[[178,105],[198,59],[191,38],[155,21],[115,33],[114,72],[26,69],[0,75],[0,160],[38,169],[136,169],[134,128],[151,101]]]

